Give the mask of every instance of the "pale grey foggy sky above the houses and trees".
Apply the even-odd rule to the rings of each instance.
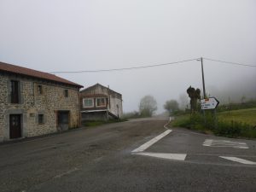
[[[44,72],[201,56],[256,65],[255,18],[254,0],[0,0],[0,61]],[[255,97],[256,67],[204,61],[204,69],[211,96]],[[154,96],[161,112],[166,100],[178,100],[189,85],[202,87],[200,61],[57,75],[84,87],[109,85],[123,95],[125,112],[137,110],[145,95]]]

